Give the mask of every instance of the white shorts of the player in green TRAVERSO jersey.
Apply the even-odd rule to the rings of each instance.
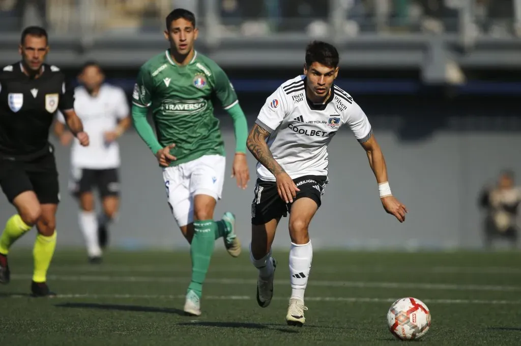
[[[163,168],[168,205],[179,227],[193,222],[195,195],[218,201],[224,184],[226,157],[205,155],[178,166]]]

